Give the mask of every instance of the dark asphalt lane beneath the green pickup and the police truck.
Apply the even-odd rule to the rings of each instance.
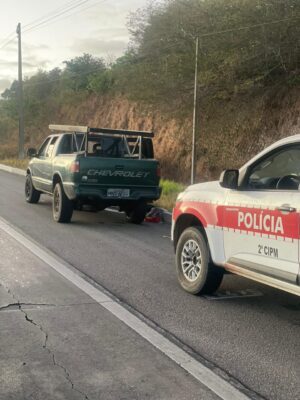
[[[0,216],[107,288],[208,360],[251,397],[300,399],[300,299],[226,276],[224,298],[205,299],[177,284],[168,225],[126,223],[122,214],[74,213],[52,220],[51,199],[24,200],[24,178],[0,172]],[[261,295],[228,294],[253,290]],[[245,292],[246,293],[246,292]]]

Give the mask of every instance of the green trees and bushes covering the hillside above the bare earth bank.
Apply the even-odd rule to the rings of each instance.
[[[196,36],[200,39],[201,106],[210,115],[215,114],[213,108],[225,110],[237,96],[245,96],[247,103],[247,96],[253,98],[256,92],[271,89],[274,96],[282,88],[299,86],[299,0],[162,0],[149,4],[130,16],[131,42],[114,63],[107,65],[103,59],[83,54],[65,61],[63,69],[40,70],[25,78],[27,143],[35,145],[41,140],[47,125],[61,118],[62,106],[75,109],[92,95],[121,95],[144,102],[146,107],[155,105],[175,118],[189,116]],[[81,118],[89,120],[89,116]],[[13,82],[0,100],[1,158],[16,155],[17,127],[17,82]]]

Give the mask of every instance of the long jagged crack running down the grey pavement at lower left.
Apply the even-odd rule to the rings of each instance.
[[[44,344],[43,344],[43,349],[47,350],[47,352],[48,352],[49,355],[51,356],[53,365],[54,365],[55,367],[59,367],[59,368],[64,372],[64,376],[65,376],[66,380],[70,383],[72,390],[74,390],[75,392],[77,392],[77,393],[79,393],[80,395],[82,395],[83,398],[84,398],[84,400],[90,400],[89,397],[87,396],[87,394],[85,394],[84,392],[80,391],[79,389],[77,389],[77,388],[75,387],[75,385],[74,385],[74,383],[73,383],[73,381],[72,381],[72,379],[71,379],[70,373],[69,373],[69,371],[67,370],[67,368],[64,367],[62,364],[59,364],[59,363],[57,362],[57,360],[56,360],[56,358],[55,358],[54,352],[47,346],[48,339],[49,339],[48,333],[44,330],[44,328],[42,327],[42,325],[40,325],[40,324],[34,322],[34,320],[33,320],[32,318],[30,318],[30,317],[28,316],[27,312],[22,308],[22,305],[24,305],[24,304],[26,304],[26,303],[21,303],[21,302],[16,298],[16,296],[14,295],[14,293],[13,293],[9,288],[3,286],[1,283],[0,283],[0,286],[2,286],[2,287],[6,290],[6,292],[16,301],[15,303],[11,303],[11,304],[9,304],[9,305],[7,305],[7,306],[2,307],[2,309],[7,309],[9,306],[15,306],[15,307],[18,307],[18,308],[19,308],[19,310],[24,314],[25,320],[26,320],[27,322],[29,322],[30,324],[34,325],[35,327],[37,327],[37,328],[42,332],[42,334],[45,336],[45,340],[44,340]],[[27,303],[27,304],[28,304],[28,303]],[[1,309],[0,309],[0,311],[1,311]]]

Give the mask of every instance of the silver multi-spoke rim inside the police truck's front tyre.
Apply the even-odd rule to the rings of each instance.
[[[188,240],[181,252],[181,268],[184,277],[189,282],[195,282],[200,275],[202,266],[202,254],[198,243]]]

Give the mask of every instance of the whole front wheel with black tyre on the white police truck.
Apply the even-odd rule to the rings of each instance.
[[[224,271],[212,264],[206,239],[196,227],[185,229],[178,240],[176,272],[180,285],[192,294],[211,294],[222,282]]]

